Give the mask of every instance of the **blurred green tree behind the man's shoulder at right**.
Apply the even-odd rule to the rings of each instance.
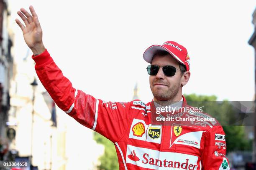
[[[203,112],[215,117],[220,124],[224,125],[223,130],[226,134],[227,153],[233,150],[252,150],[252,140],[246,138],[244,126],[232,125],[237,122],[240,110],[236,110],[227,100],[216,101],[214,95],[184,95],[189,105],[194,107],[204,106]]]

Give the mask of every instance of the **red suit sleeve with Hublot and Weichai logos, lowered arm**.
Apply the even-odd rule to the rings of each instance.
[[[205,135],[202,155],[203,170],[229,170],[225,133],[221,125],[213,126]]]

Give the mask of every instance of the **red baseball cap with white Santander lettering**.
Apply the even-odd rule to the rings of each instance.
[[[189,55],[187,54],[187,49],[182,45],[178,44],[174,41],[166,41],[163,45],[151,45],[146,49],[143,54],[143,58],[146,62],[151,63],[154,57],[154,54],[158,50],[164,50],[169,52],[178,62],[184,64],[186,66],[187,71],[190,68],[190,59]]]

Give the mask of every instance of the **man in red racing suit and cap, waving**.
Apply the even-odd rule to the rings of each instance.
[[[194,108],[182,95],[182,87],[190,77],[185,47],[167,41],[144,52],[143,58],[151,63],[147,71],[153,102],[105,102],[73,88],[62,75],[43,45],[36,12],[32,6],[29,9],[32,15],[23,8],[18,11],[26,27],[18,19],[16,22],[33,52],[39,79],[62,110],[115,144],[120,170],[229,170],[225,133],[218,122],[158,121],[168,115],[157,114],[156,107]],[[210,117],[201,112],[172,111],[169,117]]]

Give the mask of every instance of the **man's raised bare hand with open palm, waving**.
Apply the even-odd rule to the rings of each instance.
[[[29,6],[29,10],[32,16],[24,8],[20,8],[20,11],[17,12],[20,18],[25,23],[26,27],[20,22],[20,20],[15,19],[15,21],[21,28],[24,40],[28,47],[32,50],[34,55],[38,55],[45,50],[42,40],[43,31],[36,15],[36,11],[34,10],[32,5]]]

